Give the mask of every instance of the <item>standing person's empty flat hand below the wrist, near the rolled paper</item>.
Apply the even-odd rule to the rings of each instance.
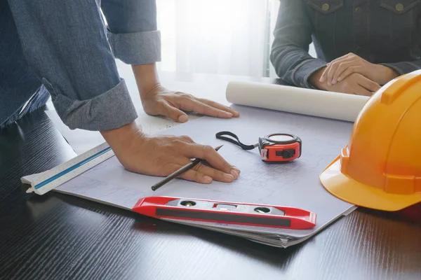
[[[161,85],[155,85],[149,92],[140,94],[143,109],[152,116],[166,116],[179,123],[188,120],[183,111],[193,111],[216,118],[238,117],[239,113],[217,102],[196,98],[192,94],[173,92]]]

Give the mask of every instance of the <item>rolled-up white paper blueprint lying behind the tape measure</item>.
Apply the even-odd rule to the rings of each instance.
[[[227,101],[276,111],[286,111],[354,122],[369,97],[288,85],[231,81]]]

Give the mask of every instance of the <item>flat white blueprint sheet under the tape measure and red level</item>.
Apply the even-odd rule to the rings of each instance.
[[[175,179],[159,190],[152,191],[151,186],[161,181],[161,177],[128,172],[113,156],[62,184],[55,191],[128,210],[142,197],[163,195],[272,204],[315,212],[317,221],[312,230],[188,222],[200,228],[282,247],[311,237],[337,218],[355,209],[353,204],[330,195],[319,181],[319,174],[347,145],[353,123],[248,106],[236,105],[234,108],[241,113],[239,118],[226,120],[202,117],[160,132],[172,135],[187,134],[200,144],[224,144],[219,153],[232,165],[241,169],[239,179],[233,183],[214,181],[204,185]],[[237,134],[245,144],[255,144],[258,137],[271,133],[295,134],[302,139],[302,156],[287,163],[262,162],[258,148],[243,151],[234,144],[216,139],[215,134],[220,131]]]

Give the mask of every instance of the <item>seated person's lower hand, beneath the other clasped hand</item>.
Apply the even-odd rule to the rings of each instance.
[[[372,92],[380,90],[380,85],[378,83],[364,77],[360,73],[351,73],[349,76],[335,84],[320,82],[323,71],[325,71],[325,69],[320,69],[310,77],[310,83],[321,90],[365,96],[371,96]]]

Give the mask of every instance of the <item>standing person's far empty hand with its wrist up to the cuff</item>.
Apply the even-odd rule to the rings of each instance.
[[[145,113],[166,116],[179,123],[188,120],[183,111],[194,111],[217,118],[238,117],[239,112],[217,102],[183,92],[173,92],[159,83],[155,64],[132,65]]]

